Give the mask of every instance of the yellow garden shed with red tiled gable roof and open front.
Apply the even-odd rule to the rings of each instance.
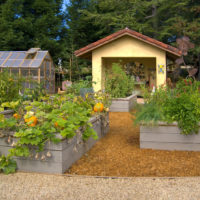
[[[105,71],[116,62],[133,72],[136,84],[165,84],[167,59],[176,60],[181,51],[125,28],[75,51],[75,55],[92,61],[94,90],[98,91],[104,89]]]

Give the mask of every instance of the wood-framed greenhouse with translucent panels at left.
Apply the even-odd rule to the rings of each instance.
[[[24,87],[31,88],[32,81],[44,84],[49,93],[55,90],[55,67],[48,51],[31,48],[28,51],[0,51],[0,71],[26,78]]]

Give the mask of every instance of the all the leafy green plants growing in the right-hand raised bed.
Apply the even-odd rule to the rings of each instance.
[[[145,104],[136,114],[136,123],[177,122],[181,133],[198,133],[200,121],[200,83],[181,80],[171,89],[162,86],[155,93],[145,91]]]

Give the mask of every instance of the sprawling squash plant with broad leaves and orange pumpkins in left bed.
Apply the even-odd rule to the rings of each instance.
[[[45,96],[41,101],[22,102],[17,113],[11,118],[1,116],[0,131],[14,131],[14,137],[18,140],[12,143],[13,148],[9,150],[8,156],[3,155],[0,158],[0,170],[5,173],[14,172],[16,163],[12,159],[13,156],[34,156],[38,159],[38,152],[43,151],[47,142],[58,143],[62,139],[73,138],[80,133],[80,128],[83,141],[90,137],[97,139],[89,119],[96,114],[93,111],[96,103],[105,103],[107,109],[108,101],[103,93],[101,96],[95,95],[86,95],[85,98],[73,95]],[[45,156],[40,159],[45,159]]]

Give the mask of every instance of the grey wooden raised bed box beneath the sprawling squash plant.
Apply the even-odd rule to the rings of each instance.
[[[101,139],[108,132],[108,116],[106,120],[102,116],[92,117],[90,122],[93,129],[98,135],[98,140]],[[81,129],[80,129],[81,131]],[[60,137],[58,135],[58,137]],[[16,141],[15,138],[11,138]],[[0,153],[7,155],[8,150],[12,148],[11,143],[7,143],[8,137],[0,138]],[[84,142],[81,134],[76,135],[73,139],[64,139],[58,144],[47,143],[45,150],[29,158],[15,157],[18,170],[28,172],[45,172],[45,173],[64,173],[75,161],[80,159],[97,140],[89,138]],[[42,159],[42,156],[45,159]],[[48,156],[47,156],[48,155]]]

